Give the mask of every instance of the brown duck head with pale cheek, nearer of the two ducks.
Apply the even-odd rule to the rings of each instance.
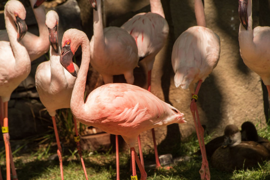
[[[239,131],[238,127],[234,124],[227,125],[224,130],[224,142],[222,144],[222,147],[234,147],[240,142],[241,132]]]

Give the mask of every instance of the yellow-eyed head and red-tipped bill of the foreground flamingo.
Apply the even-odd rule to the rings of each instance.
[[[62,49],[60,55],[60,63],[74,77],[77,77],[77,72],[75,71],[72,57],[80,46],[81,37],[80,34],[77,33],[78,31],[79,30],[77,29],[66,30],[62,38]]]

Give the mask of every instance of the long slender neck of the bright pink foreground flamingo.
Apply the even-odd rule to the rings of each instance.
[[[72,113],[78,117],[83,116],[83,108],[85,106],[83,97],[85,92],[86,76],[90,63],[90,44],[89,40],[84,39],[82,42],[82,63],[78,72],[77,79],[75,81],[72,96],[70,100],[70,108]]]

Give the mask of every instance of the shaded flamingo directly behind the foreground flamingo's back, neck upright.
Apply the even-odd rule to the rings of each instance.
[[[138,66],[138,49],[133,37],[119,27],[103,29],[100,0],[89,0],[93,12],[94,35],[90,40],[91,65],[103,77],[104,83],[113,83],[113,75],[124,74],[129,84],[133,84],[133,69]],[[116,171],[119,177],[118,136],[116,135]]]

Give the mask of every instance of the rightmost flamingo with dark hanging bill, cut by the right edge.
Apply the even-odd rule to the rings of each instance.
[[[244,63],[261,76],[270,96],[270,27],[252,29],[252,1],[239,0],[239,46]]]

